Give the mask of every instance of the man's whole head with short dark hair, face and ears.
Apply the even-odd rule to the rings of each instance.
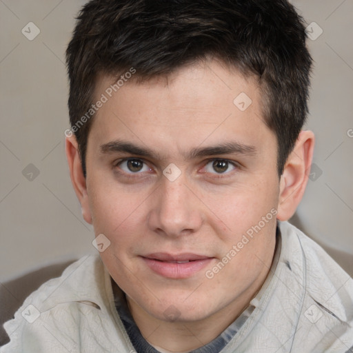
[[[72,183],[112,278],[157,319],[243,307],[311,163],[301,17],[285,0],[94,0],[67,62]]]

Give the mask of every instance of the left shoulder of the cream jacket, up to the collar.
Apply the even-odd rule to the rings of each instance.
[[[100,257],[85,256],[28,296],[5,323],[10,342],[0,352],[105,352],[104,347],[108,352],[121,347],[112,303],[110,276]]]

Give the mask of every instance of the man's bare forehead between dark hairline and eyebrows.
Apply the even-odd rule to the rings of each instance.
[[[101,143],[123,137],[185,151],[206,140],[236,137],[252,144],[264,135],[274,139],[263,120],[256,80],[218,61],[195,63],[142,82],[130,74],[119,82],[101,75],[94,95],[95,101],[105,97],[90,132]]]

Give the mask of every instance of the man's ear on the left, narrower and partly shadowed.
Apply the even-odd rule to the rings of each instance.
[[[81,203],[83,219],[85,219],[87,223],[92,224],[90,205],[88,203],[86,180],[83,175],[78,144],[74,134],[72,134],[70,137],[66,137],[65,152],[66,158],[68,159],[72,186],[74,187],[74,192],[76,192],[77,199],[79,199],[79,202]]]

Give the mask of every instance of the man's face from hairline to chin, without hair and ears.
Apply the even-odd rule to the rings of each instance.
[[[256,81],[211,61],[109,97],[112,83],[97,83],[108,101],[86,155],[106,268],[133,310],[157,319],[243,307],[268,274],[279,203],[276,137]]]

